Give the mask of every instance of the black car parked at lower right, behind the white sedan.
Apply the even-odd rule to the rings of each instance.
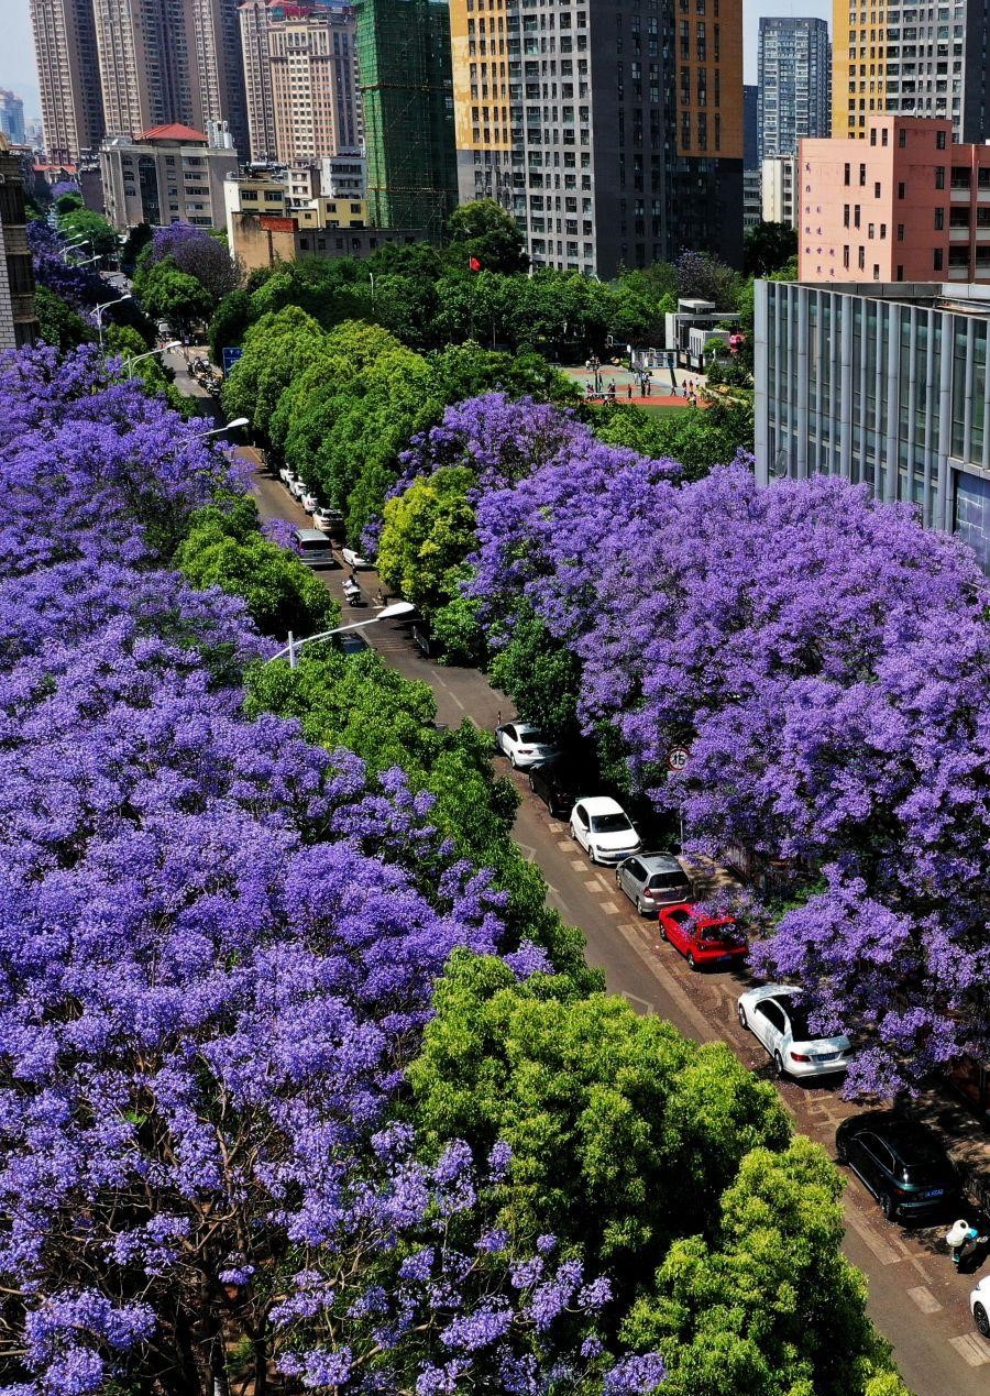
[[[889,1110],[843,1120],[835,1156],[859,1175],[888,1222],[940,1213],[959,1199],[959,1177],[938,1135]]]

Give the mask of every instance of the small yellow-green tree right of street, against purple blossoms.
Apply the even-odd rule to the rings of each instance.
[[[385,503],[378,572],[390,591],[426,614],[458,595],[464,558],[475,542],[475,510],[468,500],[473,484],[473,470],[448,468],[413,480]]]

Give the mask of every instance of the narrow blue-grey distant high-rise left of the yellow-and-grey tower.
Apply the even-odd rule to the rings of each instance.
[[[832,52],[824,20],[760,20],[760,159],[796,155],[804,135],[831,131]]]

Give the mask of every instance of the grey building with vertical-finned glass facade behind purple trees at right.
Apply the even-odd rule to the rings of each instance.
[[[990,572],[990,288],[757,282],[757,477],[839,475]]]

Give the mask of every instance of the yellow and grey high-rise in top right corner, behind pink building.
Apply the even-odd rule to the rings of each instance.
[[[871,112],[944,117],[956,141],[990,135],[984,4],[834,0],[832,135],[866,135]]]

